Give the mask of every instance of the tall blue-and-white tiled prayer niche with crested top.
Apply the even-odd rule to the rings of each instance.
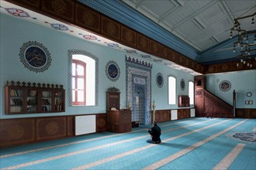
[[[151,68],[150,63],[126,56],[126,103],[131,104],[132,121],[142,124],[151,123]],[[138,96],[136,89],[143,91],[144,96]]]

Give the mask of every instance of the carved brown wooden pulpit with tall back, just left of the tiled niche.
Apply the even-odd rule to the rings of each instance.
[[[132,130],[130,109],[120,110],[120,92],[111,87],[106,92],[107,131],[123,133]]]

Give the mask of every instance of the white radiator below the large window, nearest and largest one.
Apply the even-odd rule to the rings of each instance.
[[[96,116],[76,116],[74,117],[74,134],[90,134],[96,132]]]

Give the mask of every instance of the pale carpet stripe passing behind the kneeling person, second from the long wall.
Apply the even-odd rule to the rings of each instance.
[[[207,121],[211,121],[211,119],[209,119]],[[179,128],[169,129],[167,131],[174,131],[174,130],[177,130],[177,129],[180,129],[180,128],[185,128],[185,127],[192,126],[192,125],[195,125],[195,124],[202,124],[202,123],[205,123],[207,121],[200,121],[200,122],[197,122],[197,123],[194,123],[194,124],[188,124],[188,125],[185,125],[185,126],[182,126],[182,127],[179,127]],[[220,122],[216,123],[216,124],[220,124]],[[142,131],[145,131],[145,129],[143,129]],[[163,133],[164,133],[164,131],[163,131]],[[112,146],[112,145],[123,144],[125,142],[134,141],[134,140],[137,140],[137,139],[140,139],[140,138],[145,138],[147,136],[148,136],[148,134],[137,137],[137,138],[130,138],[130,139],[127,139],[127,140],[124,140],[124,141],[113,142],[113,143],[107,144],[107,145],[100,145],[100,146],[94,147],[94,148],[87,148],[87,149],[84,149],[84,150],[81,150],[81,151],[73,151],[73,152],[70,152],[70,153],[67,153],[67,154],[64,154],[64,155],[57,155],[57,156],[54,156],[54,157],[44,158],[44,159],[36,160],[36,161],[33,161],[33,162],[26,162],[26,163],[22,163],[22,164],[19,164],[19,165],[13,165],[13,166],[7,167],[5,169],[16,169],[16,168],[22,168],[22,167],[26,167],[26,166],[30,166],[30,165],[36,165],[36,164],[43,163],[43,162],[49,162],[49,161],[52,161],[52,160],[55,160],[55,159],[64,158],[64,157],[71,156],[71,155],[78,155],[78,154],[84,153],[86,151],[94,151],[96,149],[106,148],[106,147],[109,147],[109,146]],[[76,143],[76,142],[72,142],[72,143]],[[57,145],[57,146],[59,146],[59,145]]]

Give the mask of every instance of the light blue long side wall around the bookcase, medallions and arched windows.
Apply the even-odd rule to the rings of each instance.
[[[0,91],[0,118],[14,117],[43,117],[56,115],[72,114],[94,114],[106,113],[106,90],[109,87],[117,87],[121,91],[121,107],[126,104],[126,63],[125,55],[116,49],[110,49],[106,46],[99,46],[83,39],[69,36],[63,32],[54,29],[47,29],[42,26],[17,19],[9,15],[1,14],[1,91]],[[52,59],[51,66],[43,73],[36,73],[28,70],[19,59],[19,49],[23,43],[36,41],[47,47]],[[67,50],[82,49],[92,53],[99,58],[99,105],[88,107],[69,107],[67,104]],[[119,80],[112,82],[106,76],[105,68],[109,60],[114,60],[120,68]],[[163,87],[157,87],[156,75],[162,73],[164,76]],[[188,94],[188,81],[193,80],[193,76],[182,71],[173,70],[168,66],[153,63],[152,68],[152,102],[156,101],[157,110],[177,108],[176,105],[168,105],[168,75],[177,78],[177,95]],[[181,79],[185,80],[185,90],[180,90],[179,83]],[[7,80],[36,82],[36,83],[54,83],[63,84],[66,89],[66,111],[64,113],[48,114],[5,114],[5,95],[4,87]]]

